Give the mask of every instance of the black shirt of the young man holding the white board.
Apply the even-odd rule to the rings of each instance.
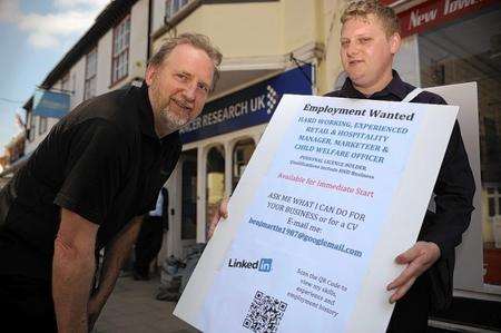
[[[381,91],[366,97],[353,87],[350,78],[341,90],[327,94],[330,97],[401,101],[415,87],[400,78],[393,70],[393,79]],[[422,91],[412,102],[446,104],[439,95]],[[445,156],[440,167],[433,189],[435,212],[428,210],[421,227],[419,241],[435,243],[441,251],[441,259],[431,270],[435,307],[444,307],[452,297],[452,273],[454,267],[454,247],[461,243],[464,231],[470,225],[472,202],[475,192],[473,174],[458,121],[449,140]]]

